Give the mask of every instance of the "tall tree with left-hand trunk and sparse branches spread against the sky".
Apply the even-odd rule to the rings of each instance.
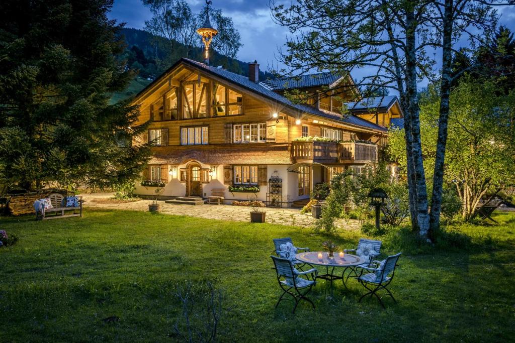
[[[411,225],[423,237],[428,236],[431,226],[420,140],[418,83],[424,78],[439,78],[436,61],[428,54],[430,49],[445,45],[443,70],[447,73],[447,57],[459,33],[466,32],[471,23],[482,23],[485,13],[490,13],[485,4],[463,1],[456,6],[445,1],[298,0],[289,7],[273,1],[270,6],[274,20],[291,33],[286,49],[280,51],[281,62],[287,66],[284,71],[295,75],[328,70],[346,75],[367,68],[370,74],[356,85],[390,88],[399,93],[406,133]],[[456,22],[459,25],[454,27]],[[447,117],[444,119],[442,130]],[[440,146],[444,152],[445,139]]]

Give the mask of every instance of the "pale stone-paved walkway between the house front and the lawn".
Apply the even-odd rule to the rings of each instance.
[[[111,201],[113,193],[91,193],[80,194],[84,200],[84,207],[109,208],[119,210],[148,211],[150,200],[139,200],[134,202]],[[246,206],[232,205],[176,205],[161,204],[161,213],[187,215],[207,219],[232,220],[239,222],[250,221],[250,208]],[[266,211],[266,222],[281,225],[297,225],[313,227],[316,219],[310,214],[301,214],[300,210],[293,208],[263,208]],[[337,220],[336,225],[340,229],[354,230],[359,228],[355,220]]]

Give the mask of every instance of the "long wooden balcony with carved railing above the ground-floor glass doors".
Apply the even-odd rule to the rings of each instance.
[[[377,156],[375,144],[320,141],[291,143],[291,157],[295,163],[313,161],[322,164],[365,164],[377,162]]]

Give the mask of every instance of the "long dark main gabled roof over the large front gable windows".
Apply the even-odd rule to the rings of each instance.
[[[152,85],[159,82],[162,78],[164,78],[171,70],[173,70],[175,67],[177,67],[180,63],[184,63],[187,65],[196,67],[196,68],[204,71],[207,74],[211,74],[211,75],[217,76],[221,79],[224,79],[226,81],[235,83],[238,86],[246,88],[250,92],[254,92],[258,95],[266,97],[269,100],[277,101],[279,104],[281,104],[283,106],[290,107],[290,109],[294,109],[294,110],[297,110],[297,111],[300,111],[303,113],[311,114],[311,115],[314,115],[317,117],[331,119],[331,120],[334,120],[337,122],[353,125],[356,127],[361,127],[364,129],[383,131],[383,132],[387,131],[387,129],[381,127],[380,125],[374,124],[368,120],[356,117],[354,115],[349,115],[347,117],[342,118],[341,116],[338,116],[338,115],[332,115],[332,114],[320,111],[310,105],[293,103],[290,100],[288,100],[287,98],[283,97],[282,95],[273,92],[270,88],[265,87],[263,84],[250,81],[249,78],[247,78],[245,76],[231,73],[231,71],[213,67],[213,66],[210,66],[210,65],[207,65],[204,63],[200,63],[197,61],[193,61],[190,59],[186,59],[186,58],[181,58],[177,63],[175,63],[168,70],[166,70],[159,78],[157,78],[155,81],[153,81],[149,85],[147,85],[138,95],[136,95],[135,99],[137,99],[140,95],[145,93],[147,88],[149,88]]]

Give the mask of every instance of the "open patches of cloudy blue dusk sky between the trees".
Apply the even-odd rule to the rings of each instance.
[[[204,0],[187,1],[195,12],[205,6]],[[268,8],[268,0],[213,0],[213,8],[221,9],[224,15],[232,17],[236,29],[242,37],[243,47],[237,58],[250,62],[257,60],[262,69],[276,64],[278,47],[282,47],[289,32],[273,23]],[[501,13],[500,24],[515,31],[515,6],[498,7]],[[126,27],[142,29],[145,20],[150,19],[150,11],[143,6],[141,0],[115,0],[111,19],[126,22]],[[355,79],[367,74],[366,70],[353,71]]]

